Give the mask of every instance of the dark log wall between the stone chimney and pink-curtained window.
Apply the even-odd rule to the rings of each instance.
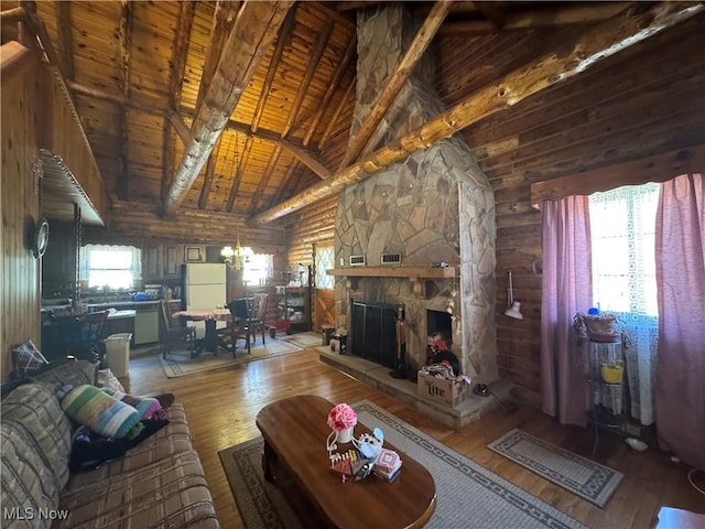
[[[513,54],[498,57],[509,71],[553,45],[551,36],[444,35],[436,50],[438,91],[453,105],[506,73],[476,68],[474,57]],[[497,360],[518,400],[541,407],[541,214],[531,206],[531,184],[703,142],[704,80],[702,21],[692,20],[463,130],[495,192]],[[502,314],[508,270],[522,321]]]

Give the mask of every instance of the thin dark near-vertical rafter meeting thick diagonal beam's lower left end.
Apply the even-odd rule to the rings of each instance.
[[[162,186],[160,196],[163,198],[174,173],[174,151],[176,141],[172,130],[176,131],[185,145],[191,141],[191,131],[178,116],[181,107],[182,85],[184,84],[184,71],[186,68],[186,56],[191,42],[191,28],[196,13],[196,2],[185,1],[178,3],[178,21],[176,22],[176,33],[172,43],[172,57],[169,71],[169,108],[171,112],[164,116],[164,136],[162,151]],[[176,119],[174,119],[174,117]],[[171,123],[171,125],[170,125]]]

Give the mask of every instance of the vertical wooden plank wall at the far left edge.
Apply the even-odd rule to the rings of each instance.
[[[32,255],[34,226],[40,219],[39,181],[33,165],[39,159],[36,131],[42,125],[35,68],[2,75],[2,338],[0,376],[12,370],[12,349],[28,339],[41,347],[40,266]],[[50,227],[51,237],[51,227]]]

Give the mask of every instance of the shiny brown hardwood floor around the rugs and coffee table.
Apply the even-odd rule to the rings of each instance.
[[[318,395],[332,402],[369,399],[593,528],[651,528],[662,505],[705,512],[705,497],[687,482],[688,468],[671,462],[668,454],[658,450],[632,453],[621,440],[605,434],[600,438],[598,454],[593,456],[589,432],[563,427],[538,410],[513,403],[505,403],[480,421],[453,431],[393,397],[322,364],[315,349],[174,379],[165,377],[155,355],[143,356],[130,361],[130,377],[122,384],[134,395],[172,391],[184,404],[220,525],[228,529],[243,526],[218,451],[258,436],[254,418],[263,406],[302,393]],[[489,442],[512,428],[521,428],[622,472],[625,478],[606,508],[600,509],[486,449]],[[324,439],[321,453],[325,455]],[[705,479],[698,477],[701,488],[705,487],[702,481]],[[468,509],[467,527],[473,527],[471,509]]]

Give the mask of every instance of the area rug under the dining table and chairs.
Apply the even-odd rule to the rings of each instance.
[[[237,366],[248,361],[272,358],[296,350],[302,350],[302,347],[281,339],[268,338],[264,345],[258,339],[258,345],[250,348],[249,355],[243,346],[238,347],[236,358],[232,358],[232,353],[225,350],[218,352],[218,356],[215,356],[213,353],[204,353],[197,358],[192,358],[191,353],[187,350],[172,350],[166,359],[162,358],[160,354],[159,361],[166,374],[166,378],[176,378],[193,375],[194,373],[209,371],[221,367]]]

